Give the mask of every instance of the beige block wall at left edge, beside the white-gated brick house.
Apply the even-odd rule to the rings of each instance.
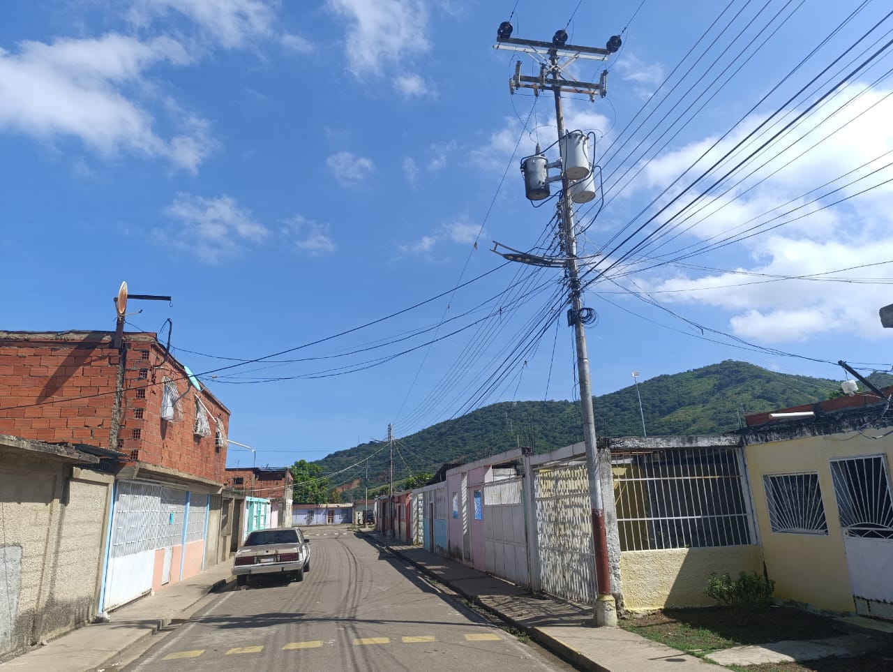
[[[96,615],[113,479],[0,447],[0,659]]]

